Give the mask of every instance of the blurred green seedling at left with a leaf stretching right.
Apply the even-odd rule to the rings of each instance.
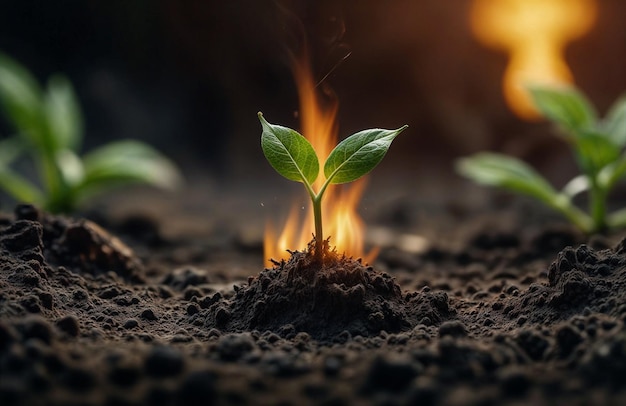
[[[55,75],[42,89],[19,63],[0,53],[0,107],[16,134],[0,139],[0,189],[51,212],[69,212],[113,186],[179,184],[176,167],[147,144],[112,142],[80,157],[82,114],[71,83]],[[39,184],[12,168],[29,157]]]

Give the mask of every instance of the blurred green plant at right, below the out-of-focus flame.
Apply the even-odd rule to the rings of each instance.
[[[458,172],[477,183],[538,199],[586,233],[625,227],[626,209],[607,214],[607,197],[626,176],[626,97],[599,119],[575,88],[531,87],[529,91],[536,108],[556,124],[570,144],[581,174],[558,191],[523,161],[490,152],[458,160]],[[572,201],[582,192],[588,193],[588,213]]]

